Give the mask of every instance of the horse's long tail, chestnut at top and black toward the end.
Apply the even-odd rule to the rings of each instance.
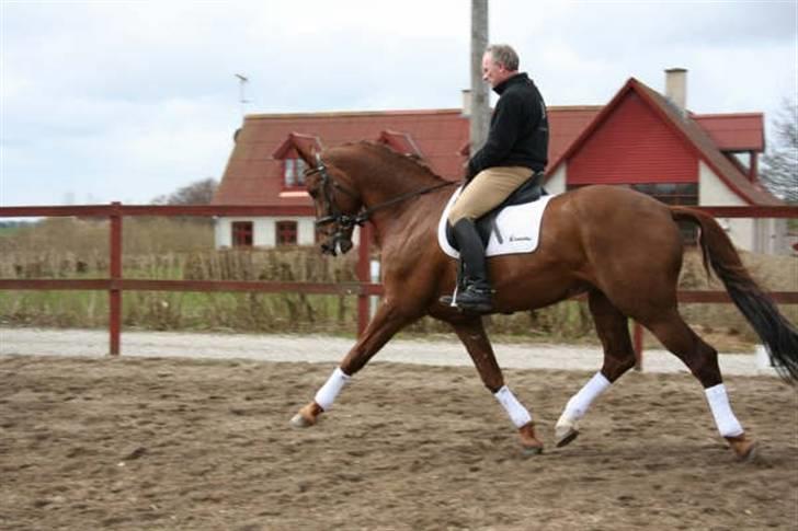
[[[697,210],[671,207],[671,215],[675,221],[700,227],[698,243],[707,273],[709,263],[734,305],[762,339],[778,374],[789,383],[798,381],[798,330],[751,278],[726,231],[715,218]]]

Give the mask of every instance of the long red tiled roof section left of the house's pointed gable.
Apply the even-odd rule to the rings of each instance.
[[[549,107],[549,160],[563,152],[598,111],[600,106]],[[457,108],[249,115],[214,203],[308,205],[305,197],[280,197],[280,157],[292,142],[307,139],[318,139],[322,147],[381,140],[401,152],[418,150],[432,171],[458,180],[467,160],[460,150],[468,143],[468,119]]]

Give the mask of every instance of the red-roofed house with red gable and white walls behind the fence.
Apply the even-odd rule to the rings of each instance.
[[[685,73],[668,71],[668,96],[631,78],[604,106],[549,107],[547,188],[561,193],[607,183],[670,204],[780,204],[757,181],[763,115],[686,111]],[[264,205],[274,207],[274,216],[220,218],[217,246],[314,243],[314,211],[303,188],[297,146],[381,142],[458,180],[467,160],[468,128],[463,109],[249,115],[236,135],[214,203]],[[743,249],[773,252],[785,245],[785,231],[774,220],[721,223]]]

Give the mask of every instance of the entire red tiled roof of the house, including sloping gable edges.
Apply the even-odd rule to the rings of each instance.
[[[548,108],[549,175],[601,126],[629,90],[657,109],[736,194],[755,205],[780,204],[759,184],[751,183],[719,150],[757,150],[763,146],[761,114],[683,117],[662,95],[634,78],[605,106]],[[280,196],[281,157],[296,142],[332,147],[361,140],[383,141],[400,152],[420,152],[433,172],[458,180],[467,160],[464,147],[468,146],[468,119],[458,108],[249,115],[236,136],[214,204],[310,205],[307,197]]]

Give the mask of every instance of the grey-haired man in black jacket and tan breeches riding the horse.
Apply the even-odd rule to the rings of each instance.
[[[465,278],[464,289],[441,302],[472,313],[493,309],[485,247],[475,222],[499,206],[524,182],[546,168],[548,118],[535,83],[518,72],[518,56],[508,45],[489,46],[482,56],[482,79],[499,94],[486,145],[468,161],[467,186],[449,215]]]

